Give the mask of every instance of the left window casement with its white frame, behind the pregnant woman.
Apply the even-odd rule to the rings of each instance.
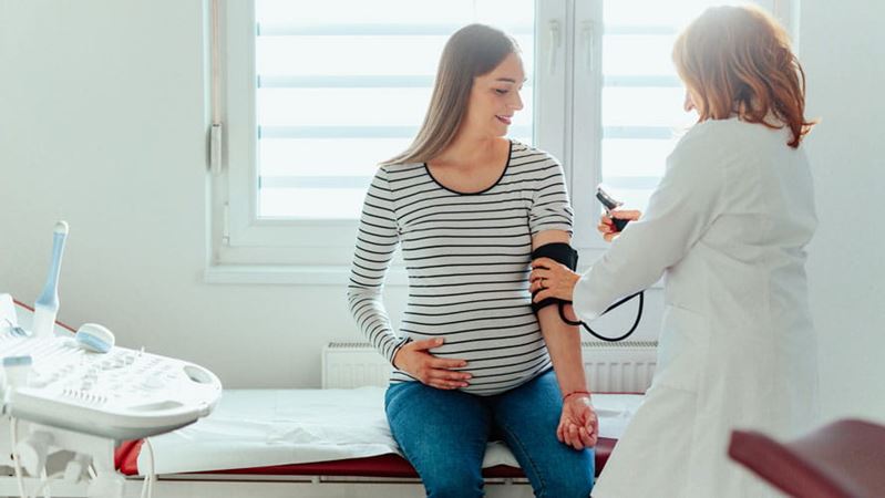
[[[213,262],[349,264],[377,164],[411,143],[445,41],[464,24],[516,38],[529,81],[511,132],[537,143],[531,95],[549,79],[532,74],[534,0],[224,7],[228,154],[213,191]]]

